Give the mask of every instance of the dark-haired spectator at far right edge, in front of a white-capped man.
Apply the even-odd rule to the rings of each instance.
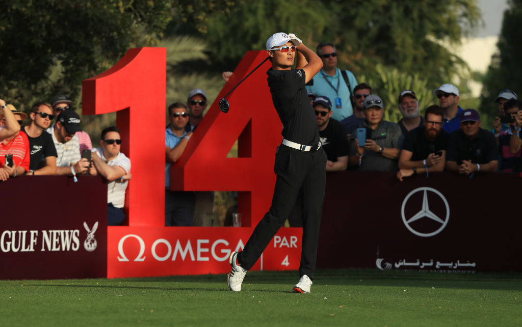
[[[502,117],[503,123],[508,127],[505,130],[499,132],[497,142],[499,144],[500,162],[499,172],[511,173],[517,163],[520,162],[520,127],[522,126],[520,121],[517,121],[516,117],[520,116],[518,112],[522,109],[522,103],[513,98],[504,102],[504,113]],[[517,115],[518,114],[518,115]]]

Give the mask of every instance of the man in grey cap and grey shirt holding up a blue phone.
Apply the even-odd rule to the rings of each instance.
[[[364,125],[353,131],[350,140],[350,165],[358,171],[396,172],[404,142],[399,125],[383,120],[384,105],[378,95],[365,97],[363,113]]]

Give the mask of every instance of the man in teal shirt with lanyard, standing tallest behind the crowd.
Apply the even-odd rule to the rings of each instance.
[[[323,60],[323,69],[319,70],[311,82],[306,86],[307,91],[326,96],[332,103],[331,118],[338,120],[345,119],[353,114],[351,97],[353,89],[357,86],[357,80],[351,71],[340,70],[337,68],[337,52],[332,43],[319,43],[317,55]],[[346,80],[343,77],[346,74]]]

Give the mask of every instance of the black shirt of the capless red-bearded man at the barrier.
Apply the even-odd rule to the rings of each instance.
[[[406,134],[402,150],[413,153],[411,161],[424,160],[430,153],[448,149],[449,133],[447,131],[441,129],[441,133],[433,141],[426,138],[425,131],[426,128],[422,126],[413,128]]]

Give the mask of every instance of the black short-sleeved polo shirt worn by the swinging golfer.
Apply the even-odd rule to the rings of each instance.
[[[283,123],[283,138],[306,146],[316,146],[319,131],[314,109],[304,88],[304,70],[270,68],[266,74],[272,101]]]

